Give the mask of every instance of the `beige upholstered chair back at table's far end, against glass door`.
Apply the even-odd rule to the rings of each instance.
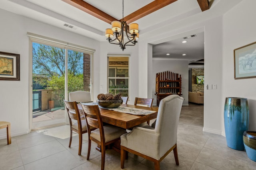
[[[91,93],[86,91],[76,91],[76,92],[70,92],[68,94],[69,101],[76,101],[78,103],[80,102],[92,102],[91,99]]]

